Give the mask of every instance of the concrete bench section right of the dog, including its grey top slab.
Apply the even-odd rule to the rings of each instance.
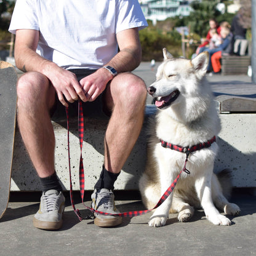
[[[222,130],[217,139],[215,169],[230,168],[234,186],[255,188],[256,100],[242,97],[217,97],[217,100]]]

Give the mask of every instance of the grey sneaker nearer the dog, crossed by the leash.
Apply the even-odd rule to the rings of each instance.
[[[111,190],[102,188],[92,193],[92,208],[109,214],[119,214],[114,206],[114,194]],[[94,214],[94,224],[102,227],[118,226],[122,223],[122,217],[112,215]]]

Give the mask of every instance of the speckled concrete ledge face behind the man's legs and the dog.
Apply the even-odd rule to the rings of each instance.
[[[154,105],[146,106],[145,121],[138,141],[130,154],[116,184],[116,190],[138,190],[138,178],[146,161],[146,124],[156,111]],[[233,185],[238,188],[256,187],[256,114],[220,114],[222,130],[217,138],[220,147],[215,161],[215,171],[232,170]],[[86,190],[93,190],[103,164],[103,138],[107,120],[85,119],[83,144]],[[79,139],[77,119],[71,119],[71,171],[73,190],[79,190]],[[65,118],[52,121],[56,136],[55,169],[64,190],[70,190],[68,149]],[[14,161],[11,191],[40,191],[36,171],[31,166],[18,129],[15,134]]]

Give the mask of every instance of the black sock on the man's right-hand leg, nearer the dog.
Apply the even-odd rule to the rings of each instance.
[[[97,190],[100,190],[101,188],[114,190],[114,182],[118,178],[119,174],[113,174],[113,172],[108,172],[108,170],[105,169],[105,166],[103,166],[102,172],[100,173],[100,178],[98,178],[98,181],[95,184],[94,188]]]

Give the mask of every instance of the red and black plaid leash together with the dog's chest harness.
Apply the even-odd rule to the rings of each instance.
[[[66,108],[66,119],[67,119],[67,130],[68,130],[68,164],[69,164],[69,169],[70,169],[70,200],[71,200],[71,204],[72,204],[75,214],[78,216],[79,220],[82,220],[84,218],[81,216],[79,210],[76,209],[76,207],[74,206],[74,199],[73,199],[73,188],[72,188],[72,180],[71,180],[71,165],[70,165],[70,135],[69,135],[70,134],[70,125],[69,125],[68,108]],[[84,166],[82,163],[82,142],[84,139],[84,116],[83,116],[83,112],[82,112],[82,102],[80,100],[78,103],[78,130],[79,130],[79,143],[80,143],[80,149],[81,149],[80,164],[79,164],[79,182],[80,182],[80,193],[81,193],[82,204],[84,204]],[[212,141],[212,140],[214,140],[214,141]],[[210,146],[209,143],[212,144],[213,142],[215,142],[215,137],[212,138],[212,140],[210,140],[206,143],[202,143],[202,145],[204,145],[203,147],[195,145],[190,148],[186,148],[186,150],[187,150],[186,152],[184,151],[185,148],[175,146],[175,145],[172,145],[172,148],[171,148],[170,143],[162,142],[162,143],[164,143],[164,147],[166,147],[166,148],[171,148],[173,150],[177,150],[177,151],[186,153],[186,160],[185,160],[185,165],[184,165],[183,169],[180,171],[177,178],[175,178],[174,182],[169,186],[169,188],[167,188],[166,192],[161,196],[161,198],[159,199],[156,206],[154,206],[154,208],[152,208],[150,210],[134,210],[134,211],[130,211],[130,212],[122,212],[119,214],[109,214],[107,212],[101,212],[101,211],[92,209],[91,207],[88,207],[85,204],[84,204],[84,207],[86,207],[86,209],[89,209],[91,212],[94,212],[95,214],[114,215],[114,216],[122,216],[122,217],[135,217],[138,215],[143,215],[148,212],[151,212],[151,210],[154,210],[154,209],[158,208],[159,206],[161,206],[161,204],[168,198],[170,193],[172,193],[182,172],[186,172],[187,174],[190,174],[190,172],[186,169],[186,162],[188,161],[189,154],[192,153],[193,151],[199,150],[201,148],[209,147]]]

